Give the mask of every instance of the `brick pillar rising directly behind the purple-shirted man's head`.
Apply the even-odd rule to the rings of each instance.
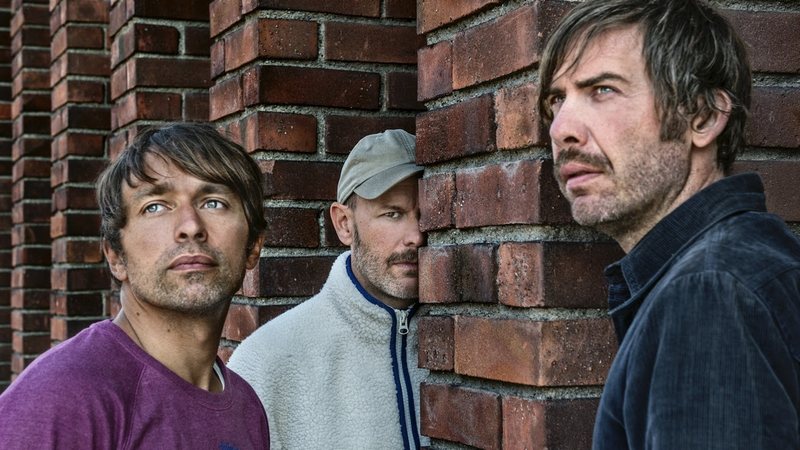
[[[110,3],[113,159],[142,127],[208,120],[210,50],[206,0]],[[108,303],[115,315],[116,293]]]

